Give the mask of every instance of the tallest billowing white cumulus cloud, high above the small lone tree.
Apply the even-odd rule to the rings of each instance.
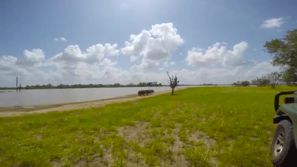
[[[134,65],[133,68],[145,69],[168,59],[170,53],[183,43],[184,40],[173,23],[155,24],[150,30],[142,30],[137,35],[132,34],[130,40],[125,42],[125,47],[121,48],[121,53],[130,55],[131,62],[142,58],[141,64]]]

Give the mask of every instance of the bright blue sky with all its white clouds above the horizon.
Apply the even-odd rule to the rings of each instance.
[[[0,86],[231,84],[279,67],[296,0],[1,0]]]

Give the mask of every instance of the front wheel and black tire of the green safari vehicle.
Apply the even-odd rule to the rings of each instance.
[[[288,120],[280,121],[271,145],[272,164],[275,167],[293,167],[296,153],[293,126]]]

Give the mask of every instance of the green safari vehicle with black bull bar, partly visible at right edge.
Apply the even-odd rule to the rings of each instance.
[[[283,98],[281,95],[292,95]],[[276,126],[271,146],[272,163],[276,167],[297,167],[297,91],[279,92],[275,96]]]

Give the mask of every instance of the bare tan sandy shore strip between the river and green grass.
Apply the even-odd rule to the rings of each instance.
[[[176,90],[180,90],[182,88],[178,88]],[[133,101],[141,98],[148,98],[152,96],[157,96],[164,93],[170,93],[167,91],[155,92],[152,95],[148,96],[137,96],[137,94],[115,97],[110,99],[96,100],[90,102],[79,102],[79,103],[71,103],[71,104],[53,104],[53,105],[39,105],[39,106],[26,106],[26,107],[2,107],[0,108],[0,117],[11,117],[11,116],[19,116],[26,114],[39,114],[39,113],[47,113],[52,111],[69,111],[75,109],[84,109],[84,108],[93,108],[93,107],[101,107],[106,104],[112,103],[120,103]]]

